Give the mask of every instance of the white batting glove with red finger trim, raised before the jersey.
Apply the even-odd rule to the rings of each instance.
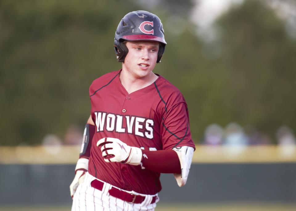
[[[102,156],[106,162],[120,162],[131,165],[139,165],[142,160],[142,150],[138,147],[130,147],[116,138],[102,138],[97,142],[101,147]]]

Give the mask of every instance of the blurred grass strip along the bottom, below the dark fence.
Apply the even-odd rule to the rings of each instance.
[[[68,211],[71,205],[0,205],[1,211]],[[155,211],[295,211],[295,204],[159,204]]]

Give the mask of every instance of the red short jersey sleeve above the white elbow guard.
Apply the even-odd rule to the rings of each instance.
[[[162,119],[162,148],[190,146],[195,148],[189,127],[189,114],[185,101],[167,110]]]

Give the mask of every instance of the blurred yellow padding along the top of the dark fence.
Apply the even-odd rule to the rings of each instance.
[[[80,146],[0,147],[1,164],[75,164]],[[196,145],[193,163],[296,162],[296,146]]]

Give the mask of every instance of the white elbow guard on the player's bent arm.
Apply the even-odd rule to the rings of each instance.
[[[183,185],[186,184],[186,181],[188,178],[194,148],[188,147],[188,146],[182,146],[182,147],[173,148],[173,150],[175,152],[177,152],[179,160],[180,160],[180,164],[181,164],[181,174],[174,173],[174,177],[175,177],[179,187],[182,187]]]

